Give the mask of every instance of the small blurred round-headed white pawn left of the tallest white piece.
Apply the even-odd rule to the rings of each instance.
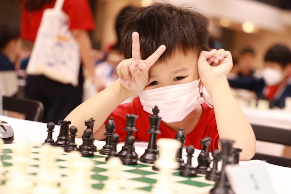
[[[119,158],[113,157],[108,160],[109,177],[101,194],[121,194],[120,186],[118,184],[118,177],[122,162]]]

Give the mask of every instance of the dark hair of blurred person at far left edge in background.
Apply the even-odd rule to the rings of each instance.
[[[11,41],[20,38],[20,30],[11,23],[0,23],[0,49]]]

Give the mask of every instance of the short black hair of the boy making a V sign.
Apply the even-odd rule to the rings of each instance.
[[[132,32],[140,34],[141,57],[145,60],[161,45],[165,52],[158,62],[169,59],[176,50],[187,54],[209,49],[209,19],[191,7],[154,3],[136,8],[127,15],[121,30],[121,50],[131,58]]]

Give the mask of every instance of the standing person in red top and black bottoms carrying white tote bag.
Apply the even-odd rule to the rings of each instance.
[[[22,0],[21,2],[21,38],[33,44],[45,9],[53,8],[56,0]],[[65,0],[63,11],[69,17],[69,29],[79,43],[81,64],[92,78],[97,91],[104,84],[95,74],[95,63],[91,56],[92,44],[88,31],[95,28],[88,0]],[[27,77],[25,94],[27,98],[41,101],[45,107],[43,122],[58,123],[82,102],[83,75],[80,69],[79,85],[62,84],[42,75]]]

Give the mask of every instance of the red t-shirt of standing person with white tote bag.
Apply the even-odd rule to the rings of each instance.
[[[53,8],[56,0],[45,4],[42,9],[29,12],[21,5],[21,38],[34,42],[45,9]],[[63,11],[69,16],[69,29],[91,31],[95,28],[93,15],[88,0],[65,0]]]

